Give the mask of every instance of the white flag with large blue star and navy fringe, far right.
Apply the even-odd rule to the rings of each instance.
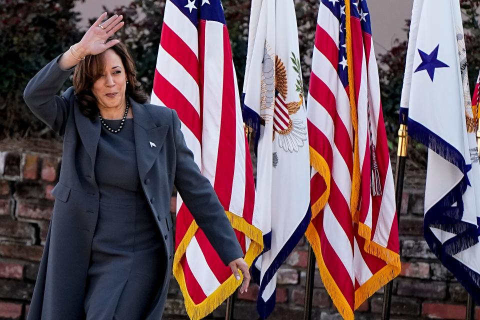
[[[414,0],[400,120],[428,147],[423,233],[480,303],[480,165],[466,68],[459,1]]]

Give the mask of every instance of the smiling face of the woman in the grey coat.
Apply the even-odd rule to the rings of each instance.
[[[112,49],[103,53],[104,69],[91,91],[99,108],[120,108],[125,103],[126,73],[121,58]]]

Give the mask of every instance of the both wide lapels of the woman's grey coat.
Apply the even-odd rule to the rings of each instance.
[[[128,99],[133,113],[133,135],[138,173],[143,180],[163,145],[168,132],[168,125],[157,126],[144,105],[137,103],[130,97]],[[96,148],[101,131],[100,120],[98,116],[94,120],[90,120],[80,112],[77,105],[74,107],[74,115],[81,142],[91,159],[92,167],[94,167]]]

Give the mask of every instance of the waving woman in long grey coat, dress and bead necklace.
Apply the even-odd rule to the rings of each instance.
[[[116,14],[28,83],[32,112],[63,137],[59,182],[28,319],[159,319],[173,255],[173,183],[246,290],[243,253],[172,109],[145,103]],[[55,95],[73,74],[73,87]]]

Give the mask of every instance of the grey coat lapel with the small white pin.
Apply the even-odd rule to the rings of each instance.
[[[156,126],[146,108],[130,99],[138,174],[143,180],[158,156],[168,125]]]

